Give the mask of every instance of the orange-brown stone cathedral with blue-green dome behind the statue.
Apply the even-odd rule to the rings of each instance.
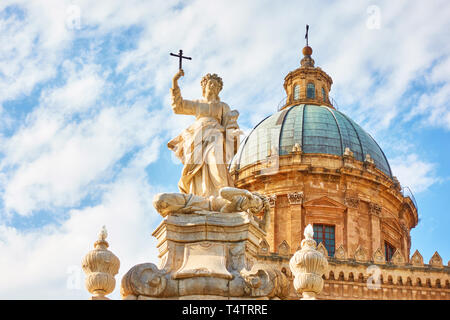
[[[300,67],[284,79],[285,103],[245,138],[231,164],[238,187],[271,199],[261,259],[284,266],[313,224],[329,263],[320,298],[450,299],[450,266],[437,252],[428,263],[410,252],[418,223],[412,193],[370,134],[336,110],[333,80],[311,55],[303,48]],[[377,290],[366,286],[372,265]]]

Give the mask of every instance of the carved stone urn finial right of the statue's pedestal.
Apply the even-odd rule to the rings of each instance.
[[[305,239],[301,242],[301,249],[294,253],[289,261],[289,267],[294,275],[294,288],[302,294],[302,300],[315,300],[322,291],[322,275],[328,266],[324,255],[316,249],[314,231],[309,224],[305,228]]]

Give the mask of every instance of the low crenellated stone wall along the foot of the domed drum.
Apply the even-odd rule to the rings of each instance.
[[[344,253],[344,256],[346,254]],[[290,256],[264,254],[258,257],[261,263],[279,268],[293,281],[288,264]],[[317,299],[327,300],[449,300],[450,266],[405,263],[374,263],[373,259],[328,257],[325,281]],[[288,299],[298,299],[290,286]]]

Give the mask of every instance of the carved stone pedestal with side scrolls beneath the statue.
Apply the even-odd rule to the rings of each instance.
[[[246,212],[170,214],[153,232],[159,268],[133,267],[124,299],[269,299],[288,294],[279,270],[256,263],[265,232]]]

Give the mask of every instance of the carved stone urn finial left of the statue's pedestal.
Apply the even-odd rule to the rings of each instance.
[[[105,226],[102,227],[98,235],[98,240],[94,243],[94,250],[90,251],[82,261],[82,267],[86,273],[86,288],[93,295],[91,300],[108,300],[115,286],[114,276],[119,272],[119,259],[108,250],[106,237],[108,232]]]

